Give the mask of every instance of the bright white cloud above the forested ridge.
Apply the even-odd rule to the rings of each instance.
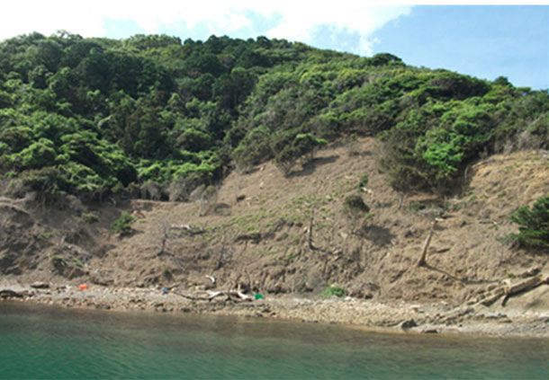
[[[211,33],[228,34],[249,28],[250,11],[280,22],[270,30],[262,31],[270,38],[310,42],[312,33],[320,25],[329,25],[337,31],[348,31],[359,36],[358,53],[371,54],[374,41],[372,33],[384,23],[410,13],[410,6],[366,6],[359,1],[289,1],[263,2],[157,0],[139,2],[127,0],[95,0],[92,2],[49,0],[19,0],[3,4],[0,16],[0,39],[39,31],[49,35],[60,29],[85,37],[105,36],[105,20],[136,22],[148,33],[160,32],[184,24],[192,30],[199,23],[205,24]],[[381,4],[380,2],[374,4]],[[207,38],[208,36],[204,36]],[[250,36],[255,37],[255,36]]]

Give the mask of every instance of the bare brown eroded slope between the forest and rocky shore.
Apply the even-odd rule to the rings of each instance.
[[[506,278],[549,270],[546,252],[516,249],[509,214],[549,189],[545,151],[493,155],[466,171],[454,197],[392,190],[374,138],[334,144],[284,177],[273,163],[232,172],[217,192],[186,203],[128,200],[44,206],[0,199],[4,280],[113,286],[241,287],[319,294],[337,283],[351,296],[464,302]],[[349,216],[360,195],[369,213]],[[23,197],[23,194],[20,194]],[[111,225],[127,211],[131,232]],[[418,267],[431,222],[439,218]],[[526,276],[526,275],[525,275]],[[546,293],[546,292],[545,292]]]

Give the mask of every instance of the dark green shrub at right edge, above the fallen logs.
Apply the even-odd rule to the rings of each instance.
[[[518,234],[511,235],[518,243],[549,247],[549,196],[537,199],[532,208],[518,208],[510,218],[519,225]]]

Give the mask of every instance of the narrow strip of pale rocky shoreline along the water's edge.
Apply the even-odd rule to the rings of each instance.
[[[250,297],[247,301],[219,297],[192,300],[174,289],[101,287],[85,289],[55,284],[0,287],[0,299],[43,305],[275,318],[302,323],[338,323],[361,330],[475,334],[498,337],[549,338],[549,313],[505,312],[482,305],[449,305],[444,302],[388,303],[352,297],[305,298],[297,295]]]

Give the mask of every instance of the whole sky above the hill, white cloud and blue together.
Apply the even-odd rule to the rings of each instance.
[[[549,88],[549,4],[362,3],[19,0],[3,4],[0,40],[61,29],[115,39],[136,33],[166,33],[182,40],[207,40],[211,34],[242,39],[265,35],[366,57],[389,52],[413,66],[489,80],[503,75],[517,86]]]

